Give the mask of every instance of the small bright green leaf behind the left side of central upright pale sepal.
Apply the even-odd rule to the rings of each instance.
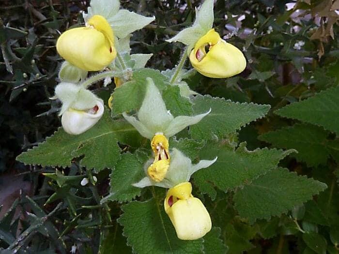
[[[128,112],[141,106],[145,96],[147,77],[152,78],[154,84],[160,91],[165,89],[164,82],[167,78],[160,74],[159,71],[153,69],[134,71],[132,81],[126,82],[121,87],[115,89],[112,95],[113,115]]]

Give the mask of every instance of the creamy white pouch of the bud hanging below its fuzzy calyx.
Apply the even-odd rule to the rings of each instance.
[[[96,105],[90,110],[76,110],[69,108],[62,114],[63,130],[72,135],[84,133],[89,130],[104,114],[104,102],[98,99]]]

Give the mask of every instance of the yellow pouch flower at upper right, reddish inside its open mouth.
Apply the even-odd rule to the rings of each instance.
[[[200,74],[207,77],[230,77],[246,68],[244,54],[237,47],[222,40],[214,29],[198,40],[189,60]]]

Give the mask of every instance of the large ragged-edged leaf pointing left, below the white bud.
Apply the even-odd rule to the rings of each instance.
[[[54,135],[38,147],[21,153],[16,159],[25,164],[42,166],[70,166],[75,157],[84,156],[82,165],[100,171],[112,168],[120,158],[117,142],[139,142],[140,136],[125,120],[112,120],[108,110],[90,130],[80,135],[70,135],[59,128]]]

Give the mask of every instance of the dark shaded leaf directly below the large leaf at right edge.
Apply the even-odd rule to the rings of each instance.
[[[294,153],[298,161],[306,162],[309,166],[326,164],[329,151],[326,149],[328,133],[322,127],[311,124],[295,124],[292,127],[281,128],[258,137],[283,149],[296,149]]]

